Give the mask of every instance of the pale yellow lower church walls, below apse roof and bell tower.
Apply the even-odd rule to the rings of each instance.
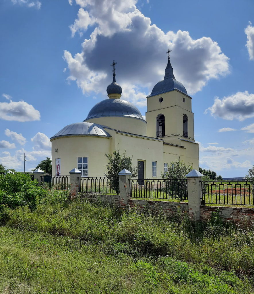
[[[88,176],[104,176],[108,160],[106,153],[120,149],[132,156],[132,163],[144,161],[144,178],[161,178],[164,163],[176,161],[179,156],[186,165],[193,163],[198,168],[198,144],[183,141],[184,148],[163,144],[163,141],[141,138],[105,128],[112,138],[93,136],[70,136],[52,140],[52,175],[55,175],[55,159],[61,158],[61,175],[77,168],[77,157],[88,157]],[[58,149],[55,152],[55,149]],[[152,176],[152,161],[157,161],[157,177]]]

